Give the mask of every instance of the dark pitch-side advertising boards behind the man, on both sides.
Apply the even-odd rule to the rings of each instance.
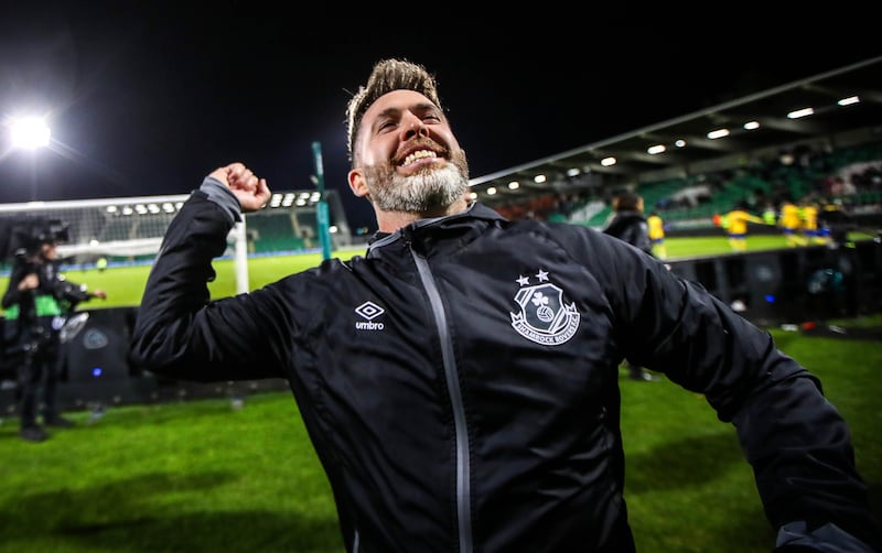
[[[670,262],[670,270],[701,283],[761,326],[880,313],[882,241],[864,240],[854,246],[679,259]],[[62,356],[64,378],[58,390],[63,409],[99,412],[112,405],[208,397],[238,402],[251,393],[288,389],[287,382],[275,379],[194,383],[158,377],[130,366],[127,359],[137,307],[88,313],[86,325],[65,345]],[[11,416],[15,412],[14,367],[4,367],[0,376],[0,416]]]

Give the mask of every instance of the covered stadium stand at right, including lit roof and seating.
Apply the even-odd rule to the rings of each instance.
[[[633,132],[472,180],[473,196],[502,214],[601,226],[610,198],[638,192],[677,228],[710,226],[738,199],[820,195],[837,173],[882,160],[882,56],[815,75]],[[797,109],[814,113],[797,118]],[[713,130],[729,135],[713,139]],[[664,147],[649,150],[652,147]],[[605,160],[614,159],[614,163]],[[512,184],[517,183],[517,184]],[[711,194],[692,205],[665,204],[693,186]],[[838,198],[879,212],[879,180]],[[659,205],[662,202],[662,205]]]

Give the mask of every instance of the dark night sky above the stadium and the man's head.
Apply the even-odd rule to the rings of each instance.
[[[346,184],[344,119],[383,57],[435,74],[477,177],[882,53],[869,33],[785,36],[781,25],[713,36],[567,13],[463,26],[440,7],[364,21],[342,8],[308,18],[249,2],[186,6],[17,2],[4,12],[0,204],[183,194],[233,161],[273,189],[313,187],[318,141],[351,226],[374,229]],[[50,149],[9,148],[6,123],[25,113],[49,115]]]

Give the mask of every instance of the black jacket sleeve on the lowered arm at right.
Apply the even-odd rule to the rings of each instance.
[[[851,534],[879,546],[849,427],[818,378],[700,284],[601,242],[593,251],[602,262],[595,257],[594,264],[603,271],[623,353],[703,394],[734,425],[779,541],[797,543],[802,529],[804,538]]]

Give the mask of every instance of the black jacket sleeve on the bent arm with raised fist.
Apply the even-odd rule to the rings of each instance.
[[[148,276],[132,330],[132,365],[198,381],[283,376],[279,344],[288,327],[276,324],[283,307],[273,292],[209,297],[212,260],[224,252],[233,224],[228,207],[201,189],[184,203]]]

